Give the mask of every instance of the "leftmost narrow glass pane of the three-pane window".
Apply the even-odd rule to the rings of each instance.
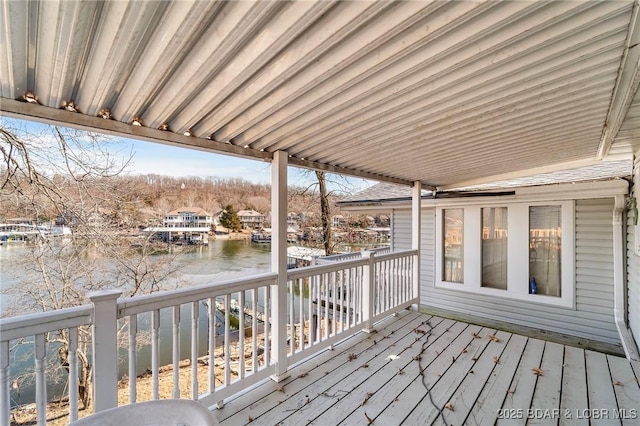
[[[464,281],[464,210],[446,209],[443,213],[443,281]]]

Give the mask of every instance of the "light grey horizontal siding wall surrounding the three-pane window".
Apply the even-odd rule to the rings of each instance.
[[[575,309],[435,285],[435,208],[422,211],[421,305],[619,344],[613,316],[613,198],[575,202]],[[394,250],[411,247],[411,211],[393,211]]]

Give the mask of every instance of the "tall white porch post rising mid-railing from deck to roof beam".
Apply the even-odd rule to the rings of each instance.
[[[278,274],[272,286],[271,324],[273,380],[287,377],[287,153],[276,151],[271,163],[271,271]]]

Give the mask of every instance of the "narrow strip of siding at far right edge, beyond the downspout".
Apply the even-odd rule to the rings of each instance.
[[[640,155],[636,155],[634,170],[640,168]],[[640,171],[636,171],[640,174]],[[636,197],[640,193],[640,177],[637,178],[632,188],[631,196]],[[640,205],[638,205],[640,208]],[[631,334],[637,344],[640,344],[640,256],[636,253],[635,245],[640,244],[640,222],[633,225],[633,213],[627,211],[627,296],[628,296],[628,321]],[[640,345],[639,345],[640,346]]]

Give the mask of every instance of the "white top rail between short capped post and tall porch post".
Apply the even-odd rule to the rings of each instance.
[[[222,281],[219,284],[204,284],[195,287],[163,291],[152,295],[136,296],[118,300],[118,317],[168,308],[195,302],[209,297],[223,296],[236,291],[251,290],[263,285],[275,284],[277,274],[268,272],[251,277]]]

